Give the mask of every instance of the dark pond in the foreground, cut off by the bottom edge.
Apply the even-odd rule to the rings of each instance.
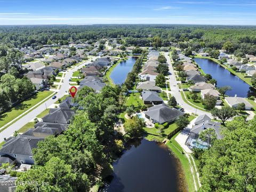
[[[113,166],[113,180],[101,191],[186,191],[181,189],[177,159],[155,141],[133,140]]]

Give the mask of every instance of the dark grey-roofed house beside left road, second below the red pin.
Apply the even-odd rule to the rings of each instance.
[[[48,115],[42,118],[43,122],[69,124],[71,117],[75,115],[75,111],[68,108],[50,109]]]

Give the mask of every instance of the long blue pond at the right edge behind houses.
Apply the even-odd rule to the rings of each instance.
[[[212,78],[217,81],[217,87],[229,85],[232,90],[227,91],[226,94],[230,97],[250,97],[256,95],[256,90],[245,83],[239,77],[231,74],[227,69],[218,65],[210,59],[195,58],[196,63],[200,66],[204,73],[211,74]]]

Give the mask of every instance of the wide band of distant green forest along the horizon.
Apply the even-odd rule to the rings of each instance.
[[[124,45],[150,46],[153,38],[161,38],[161,46],[178,44],[181,49],[222,49],[231,42],[230,53],[239,57],[256,54],[255,26],[196,25],[87,25],[87,26],[1,26],[0,44],[9,47],[68,44],[101,38],[120,38]]]

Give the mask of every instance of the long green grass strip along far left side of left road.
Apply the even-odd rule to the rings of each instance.
[[[36,95],[31,97],[30,99],[23,101],[19,105],[13,107],[6,113],[0,115],[0,127],[4,126],[6,123],[12,121],[12,119],[18,117],[22,113],[24,113],[26,110],[29,108],[35,106],[37,103],[41,102],[43,99],[51,95],[53,92],[52,91],[43,91],[43,92],[38,92]],[[5,127],[4,129],[6,129]],[[0,132],[3,130],[0,130]]]

